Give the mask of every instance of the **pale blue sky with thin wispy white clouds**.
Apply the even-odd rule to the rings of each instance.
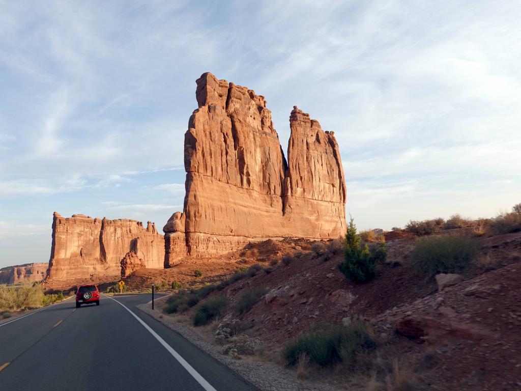
[[[521,202],[518,1],[0,0],[0,267],[47,262],[54,211],[182,210],[205,71],[335,132],[358,228]]]

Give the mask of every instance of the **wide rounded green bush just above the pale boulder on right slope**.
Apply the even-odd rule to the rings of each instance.
[[[438,273],[461,273],[475,258],[479,242],[463,236],[418,238],[412,251],[416,269],[433,277]]]

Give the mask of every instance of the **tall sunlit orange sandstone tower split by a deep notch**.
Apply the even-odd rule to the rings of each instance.
[[[165,266],[266,238],[337,238],[345,181],[333,132],[294,107],[288,162],[261,95],[206,73],[184,139],[183,212],[165,231]]]

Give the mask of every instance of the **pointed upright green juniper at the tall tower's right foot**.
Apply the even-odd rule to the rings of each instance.
[[[379,248],[371,253],[367,245],[362,246],[362,238],[356,233],[356,225],[351,217],[345,235],[344,255],[344,262],[338,264],[339,270],[352,282],[363,283],[375,277],[376,264],[386,259],[386,249],[380,243]]]

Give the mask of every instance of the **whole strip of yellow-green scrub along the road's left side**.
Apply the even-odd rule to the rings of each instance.
[[[51,291],[44,294],[41,284],[26,283],[14,287],[0,284],[0,311],[4,317],[8,317],[8,311],[39,308],[63,299],[62,291]]]

